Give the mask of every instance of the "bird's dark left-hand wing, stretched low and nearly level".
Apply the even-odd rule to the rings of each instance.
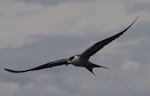
[[[28,71],[35,71],[35,70],[41,70],[41,69],[45,69],[45,68],[51,68],[51,67],[55,67],[55,66],[65,65],[67,63],[68,63],[68,59],[61,59],[61,60],[46,63],[44,65],[41,65],[41,66],[38,66],[35,68],[31,68],[28,70],[12,70],[12,69],[7,69],[7,68],[5,68],[5,70],[12,72],[12,73],[23,73],[23,72],[28,72]]]

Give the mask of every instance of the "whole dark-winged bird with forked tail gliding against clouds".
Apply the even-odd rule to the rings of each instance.
[[[93,56],[95,53],[97,53],[99,50],[101,50],[104,46],[115,40],[116,38],[120,37],[122,34],[124,34],[138,19],[139,16],[136,17],[136,19],[124,30],[121,32],[110,36],[102,41],[96,42],[93,44],[91,47],[87,48],[85,51],[83,51],[81,54],[71,56],[67,59],[60,59],[52,62],[48,62],[46,64],[27,69],[27,70],[12,70],[12,69],[7,69],[4,68],[6,71],[12,72],[12,73],[23,73],[23,72],[28,72],[28,71],[35,71],[35,70],[41,70],[45,68],[52,68],[56,66],[61,66],[61,65],[66,65],[68,66],[69,64],[72,64],[76,67],[84,67],[88,71],[90,71],[93,75],[95,73],[93,72],[93,68],[105,68],[109,69],[108,67],[102,66],[102,65],[97,65],[92,63],[89,59],[91,56]]]

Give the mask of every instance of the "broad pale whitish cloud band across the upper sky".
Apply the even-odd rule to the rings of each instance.
[[[129,24],[137,15],[127,14],[125,6],[117,1],[43,6],[10,0],[1,1],[0,14],[0,47],[20,46],[38,35],[100,34]]]

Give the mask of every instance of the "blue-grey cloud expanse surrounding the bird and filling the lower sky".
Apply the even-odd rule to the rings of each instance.
[[[144,37],[149,40],[148,25],[149,23],[143,23],[134,27],[134,30],[132,28],[132,30],[117,39],[117,41],[125,42]],[[40,65],[44,62],[67,58],[70,55],[78,54],[74,51],[70,53],[70,51],[87,48],[92,38],[96,38],[96,40],[101,39],[98,35],[90,36],[93,37],[38,36],[41,39],[37,42],[26,44],[19,48],[7,47],[0,49],[1,67],[25,69]],[[89,37],[88,34],[87,37]],[[109,46],[115,46],[115,43],[112,42],[112,44],[104,47],[101,52],[92,58],[94,62],[110,68],[109,70],[96,69],[96,77],[84,68],[76,68],[70,65],[68,67],[61,66],[24,74],[12,74],[0,70],[0,76],[3,77],[0,78],[0,81],[3,80],[18,84],[19,90],[12,94],[15,96],[58,96],[60,94],[61,96],[87,96],[89,94],[92,96],[99,94],[102,96],[147,96],[150,86],[146,90],[139,87],[140,85],[144,87],[145,83],[149,83],[146,79],[150,79],[146,71],[144,71],[144,67],[142,67],[148,66],[149,62],[148,42],[140,41],[137,46],[122,45],[114,49],[125,51],[123,53],[103,53],[105,48]],[[140,69],[137,69],[135,72],[122,70],[120,67],[126,62],[126,58],[138,62]]]

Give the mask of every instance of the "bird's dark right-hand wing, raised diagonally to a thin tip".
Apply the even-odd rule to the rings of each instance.
[[[124,32],[126,32],[136,22],[137,19],[138,19],[138,17],[131,23],[131,25],[129,25],[126,29],[119,32],[118,34],[113,35],[107,39],[104,39],[102,41],[95,43],[93,46],[91,46],[90,48],[85,50],[80,56],[82,58],[89,59],[90,56],[94,55],[96,52],[98,52],[100,49],[102,49],[105,45],[112,42],[113,40],[115,40],[116,38],[121,36]]]

